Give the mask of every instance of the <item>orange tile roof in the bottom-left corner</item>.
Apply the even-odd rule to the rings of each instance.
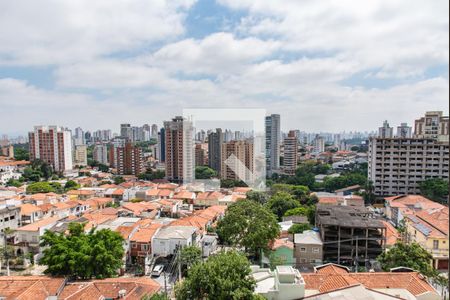
[[[64,278],[47,276],[1,276],[0,296],[6,299],[46,299],[56,296],[64,281]]]

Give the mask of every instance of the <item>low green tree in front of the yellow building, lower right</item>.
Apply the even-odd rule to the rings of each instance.
[[[432,259],[431,253],[419,244],[407,245],[402,242],[396,243],[389,251],[382,253],[377,258],[384,271],[402,266],[417,270],[425,276],[434,277],[437,272],[431,266]]]

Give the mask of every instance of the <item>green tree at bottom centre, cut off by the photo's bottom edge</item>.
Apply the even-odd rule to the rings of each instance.
[[[254,299],[255,280],[250,263],[237,251],[222,251],[193,265],[175,286],[175,297],[184,299]]]

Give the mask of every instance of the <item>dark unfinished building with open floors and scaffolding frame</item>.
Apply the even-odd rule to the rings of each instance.
[[[365,207],[318,205],[316,226],[324,262],[358,266],[376,259],[386,245],[386,228]]]

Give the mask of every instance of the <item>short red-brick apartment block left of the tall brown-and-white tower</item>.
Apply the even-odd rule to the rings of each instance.
[[[142,148],[127,142],[125,147],[117,148],[117,173],[121,175],[139,175],[145,172]]]

